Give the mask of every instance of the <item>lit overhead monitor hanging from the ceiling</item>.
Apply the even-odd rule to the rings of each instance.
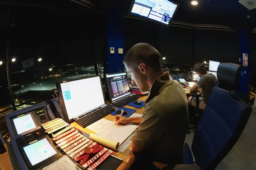
[[[179,5],[172,0],[132,0],[128,16],[168,26]]]

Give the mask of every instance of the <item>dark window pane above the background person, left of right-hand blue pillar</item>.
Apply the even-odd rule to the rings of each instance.
[[[204,60],[239,64],[240,46],[236,33],[214,30],[195,30],[196,62]]]

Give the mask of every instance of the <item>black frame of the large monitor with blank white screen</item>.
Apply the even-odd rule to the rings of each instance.
[[[102,94],[103,94],[104,102],[106,103],[106,98],[105,98],[105,94],[104,94],[104,90],[103,90],[103,86],[102,86],[102,77],[101,77],[101,75],[95,75],[95,76],[90,76],[90,77],[81,77],[81,78],[76,78],[76,79],[68,79],[68,80],[62,80],[62,81],[58,82],[58,84],[57,84],[57,87],[59,89],[58,98],[59,98],[59,103],[60,103],[60,106],[61,106],[61,110],[62,110],[65,122],[70,123],[70,122],[73,122],[74,119],[73,118],[69,119],[68,116],[67,116],[67,109],[66,109],[64,99],[63,99],[61,83],[73,82],[73,81],[77,81],[77,80],[81,80],[81,79],[89,79],[89,78],[93,78],[93,77],[99,77],[101,87],[102,87]]]

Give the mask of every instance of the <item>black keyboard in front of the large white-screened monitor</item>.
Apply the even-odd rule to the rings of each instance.
[[[78,116],[75,118],[75,122],[78,123],[81,127],[85,128],[88,125],[112,113],[113,111],[115,111],[115,109],[110,106],[105,106],[104,108],[99,107],[93,111],[89,111],[81,116]]]

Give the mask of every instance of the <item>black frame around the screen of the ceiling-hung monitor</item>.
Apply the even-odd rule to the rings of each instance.
[[[175,12],[173,13],[173,16],[172,16],[172,18],[171,18],[171,20],[170,20],[170,22],[169,22],[168,25],[166,25],[166,24],[164,24],[164,23],[161,23],[161,22],[159,22],[159,21],[156,21],[156,20],[152,20],[152,19],[146,18],[146,17],[142,17],[142,16],[139,16],[139,15],[131,14],[131,10],[132,10],[132,8],[133,8],[133,6],[134,6],[135,0],[132,0],[132,1],[131,1],[131,5],[130,5],[130,8],[129,8],[129,11],[128,11],[127,16],[128,16],[128,17],[131,17],[131,18],[140,19],[140,20],[151,21],[151,22],[153,22],[153,23],[157,23],[157,24],[160,24],[160,25],[162,25],[162,26],[170,26],[170,24],[172,23],[173,18],[174,18],[175,15],[176,15],[176,12],[177,12],[177,10],[178,10],[180,4],[177,3],[177,2],[175,2],[174,0],[168,0],[168,1],[170,1],[171,3],[175,3],[175,4],[177,5],[177,8],[175,9]]]

